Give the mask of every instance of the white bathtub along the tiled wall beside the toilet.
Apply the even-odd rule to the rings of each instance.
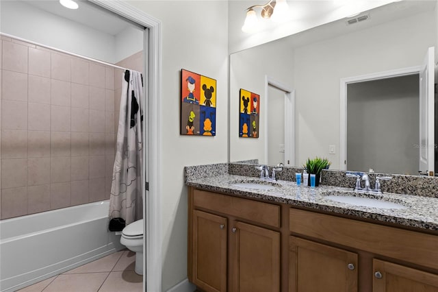
[[[0,289],[16,291],[123,248],[109,201],[0,221]]]

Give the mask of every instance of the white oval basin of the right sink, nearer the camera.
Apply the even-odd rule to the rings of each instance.
[[[358,196],[354,195],[326,195],[326,199],[330,199],[331,201],[344,203],[353,206],[362,206],[362,207],[370,207],[370,208],[378,208],[378,209],[407,209],[409,207],[404,206],[398,202],[391,202],[387,199],[383,199],[382,197],[372,197],[370,196]]]

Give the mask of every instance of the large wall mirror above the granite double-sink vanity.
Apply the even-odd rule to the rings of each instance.
[[[436,110],[433,104],[430,109],[420,106],[420,71],[428,48],[438,44],[437,1],[394,2],[355,17],[365,20],[349,24],[350,19],[342,19],[231,54],[231,162],[257,158],[261,164],[301,166],[309,157],[323,156],[332,162],[331,169],[407,175],[426,171],[420,169],[420,149],[425,147],[420,143],[421,110]],[[436,72],[437,50],[432,56]],[[287,95],[272,93],[268,80],[293,93],[292,114],[285,110]],[[261,95],[257,139],[239,138],[240,88]],[[278,106],[282,97],[283,108]],[[284,127],[272,126],[279,123]],[[281,136],[287,129],[294,133],[293,145],[287,143],[291,139],[270,143],[268,132]],[[435,138],[428,147],[434,143]],[[270,155],[287,149],[292,149],[289,158]],[[438,156],[436,149],[432,156]]]

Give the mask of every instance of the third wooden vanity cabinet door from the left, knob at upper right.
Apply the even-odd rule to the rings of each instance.
[[[289,292],[356,292],[357,254],[289,238]]]

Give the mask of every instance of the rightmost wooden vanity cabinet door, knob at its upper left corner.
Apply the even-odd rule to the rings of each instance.
[[[373,260],[374,292],[437,292],[438,275],[417,269]]]

